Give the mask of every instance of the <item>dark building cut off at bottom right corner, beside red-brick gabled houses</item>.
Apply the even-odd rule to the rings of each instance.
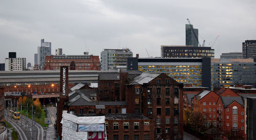
[[[247,108],[246,108],[246,134],[247,139],[255,139],[256,137],[256,98],[255,97],[247,97]]]

